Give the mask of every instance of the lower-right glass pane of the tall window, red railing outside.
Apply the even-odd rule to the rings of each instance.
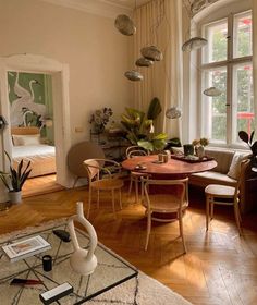
[[[250,63],[234,66],[233,105],[236,105],[233,113],[235,135],[240,142],[238,132],[246,131],[248,134],[254,130],[254,95],[253,95],[253,66]],[[236,123],[235,123],[236,122]]]

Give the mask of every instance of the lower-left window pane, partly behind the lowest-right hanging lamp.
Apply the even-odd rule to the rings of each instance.
[[[227,141],[227,69],[206,71],[204,77],[205,88],[216,87],[221,90],[218,97],[205,96],[204,98],[205,134],[212,142],[224,143]]]

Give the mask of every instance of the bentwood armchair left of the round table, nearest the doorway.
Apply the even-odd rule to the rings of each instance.
[[[99,208],[100,191],[111,192],[112,211],[115,216],[115,191],[119,191],[120,208],[122,209],[121,188],[123,186],[123,181],[119,179],[119,174],[121,173],[120,164],[108,159],[87,159],[83,162],[83,166],[86,169],[89,183],[87,218],[89,218],[90,213],[91,195],[94,191],[97,192],[97,208]],[[114,171],[114,173],[112,173],[112,171]],[[106,173],[106,178],[101,176],[101,172]]]

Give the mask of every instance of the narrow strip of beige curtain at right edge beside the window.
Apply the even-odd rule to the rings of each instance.
[[[255,101],[255,132],[257,132],[257,1],[253,1],[253,78]]]

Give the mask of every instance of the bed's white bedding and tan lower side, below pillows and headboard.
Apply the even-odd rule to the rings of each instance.
[[[13,151],[14,167],[21,160],[24,160],[24,164],[28,161],[32,162],[32,172],[29,178],[50,174],[56,172],[56,148],[54,146],[39,144],[27,146],[14,146]]]

